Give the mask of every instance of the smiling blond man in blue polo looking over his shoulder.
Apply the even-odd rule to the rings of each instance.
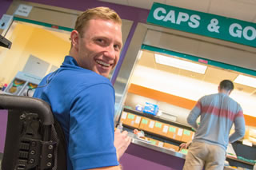
[[[70,39],[70,54],[34,97],[48,102],[62,125],[68,170],[120,169],[130,137],[114,132],[114,88],[106,77],[118,63],[122,20],[106,7],[86,10]]]

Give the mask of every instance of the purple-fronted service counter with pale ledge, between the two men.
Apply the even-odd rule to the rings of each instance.
[[[120,163],[123,170],[182,170],[185,163],[186,155],[181,152],[150,144],[145,140],[133,138],[126,153],[122,156]],[[246,161],[228,158],[242,164],[248,164],[252,169],[254,164]],[[232,170],[235,168],[225,167],[224,170]],[[241,168],[240,168],[241,169]]]

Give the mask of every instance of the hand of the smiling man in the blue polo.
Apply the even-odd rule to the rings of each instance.
[[[121,133],[118,128],[114,132],[114,146],[117,149],[118,161],[130,144],[130,136],[127,135],[127,131]]]

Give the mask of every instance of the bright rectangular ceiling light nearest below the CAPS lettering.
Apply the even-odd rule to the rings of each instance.
[[[156,63],[162,65],[168,65],[171,67],[176,67],[178,69],[186,69],[195,73],[206,73],[207,66],[199,65],[194,62],[180,60],[174,57],[167,57],[158,53],[154,53],[154,58]]]

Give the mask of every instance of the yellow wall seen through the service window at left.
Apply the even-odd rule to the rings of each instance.
[[[60,66],[70,50],[66,34],[42,26],[14,23],[6,35],[12,42],[11,49],[0,50],[0,84],[9,84],[18,71],[22,71],[30,54],[49,62],[50,66]]]

